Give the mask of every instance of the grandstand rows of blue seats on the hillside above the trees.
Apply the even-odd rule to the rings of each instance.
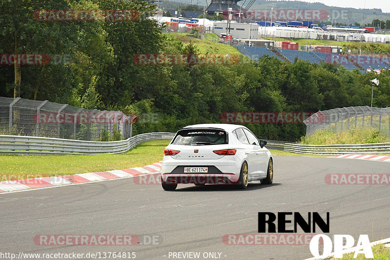
[[[307,52],[279,48],[275,48],[272,51],[268,48],[254,46],[236,47],[238,51],[252,60],[258,60],[260,57],[268,55],[281,61],[283,61],[282,58],[285,57],[291,62],[294,62],[295,59],[305,60],[316,64],[327,62],[331,64],[337,64],[338,66],[342,65],[348,70],[358,69],[361,72],[367,72],[367,69],[390,69],[390,61],[379,56],[342,55],[335,53]],[[281,57],[283,57],[278,57],[278,54],[281,54]]]

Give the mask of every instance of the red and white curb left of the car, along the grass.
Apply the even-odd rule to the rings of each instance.
[[[161,162],[143,167],[107,172],[91,172],[56,177],[42,177],[23,180],[6,180],[0,182],[0,193],[29,190],[34,188],[47,188],[60,185],[79,184],[99,180],[112,180],[117,178],[130,178],[137,175],[152,174],[161,171]]]

